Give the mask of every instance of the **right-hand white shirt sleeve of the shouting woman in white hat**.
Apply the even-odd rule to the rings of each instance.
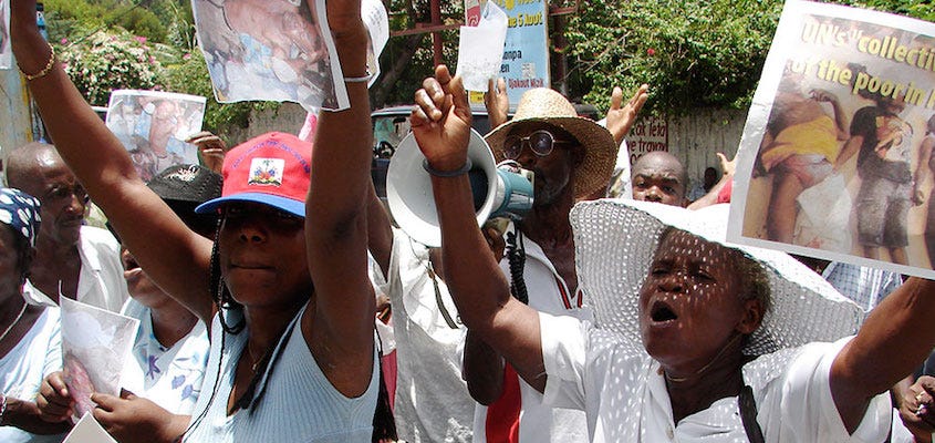
[[[831,364],[851,338],[834,343],[812,343],[791,362],[782,380],[781,416],[796,441],[882,442],[890,431],[889,393],[874,396],[860,425],[849,435],[831,395]],[[801,435],[806,432],[806,435]]]

